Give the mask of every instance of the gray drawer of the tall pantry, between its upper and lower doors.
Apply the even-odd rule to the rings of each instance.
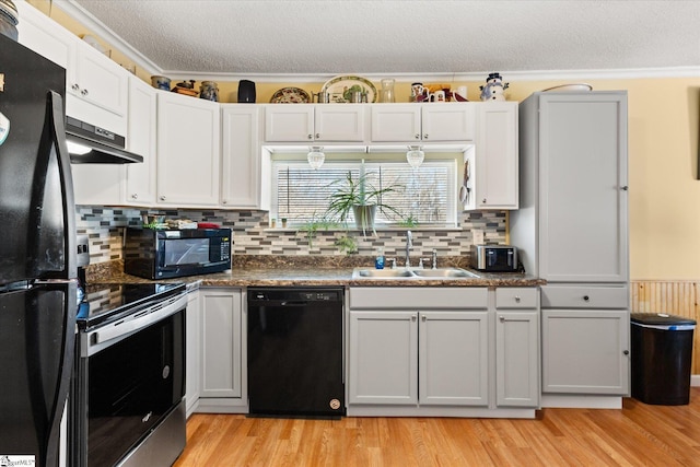
[[[542,308],[627,308],[627,285],[542,285]]]

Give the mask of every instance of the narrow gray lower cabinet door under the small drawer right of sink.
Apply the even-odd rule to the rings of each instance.
[[[539,323],[536,311],[499,311],[495,316],[495,404],[539,405]]]

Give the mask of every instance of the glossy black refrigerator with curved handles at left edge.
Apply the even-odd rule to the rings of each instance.
[[[0,465],[59,462],[77,308],[65,73],[0,35]]]

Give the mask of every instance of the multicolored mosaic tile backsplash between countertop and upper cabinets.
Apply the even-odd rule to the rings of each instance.
[[[196,222],[214,222],[233,231],[233,253],[245,255],[346,255],[336,245],[345,236],[342,231],[319,229],[308,235],[298,229],[270,229],[266,211],[223,210],[152,210],[138,208],[107,208],[78,206],[75,221],[78,234],[90,236],[91,262],[105,262],[122,258],[124,230],[140,226],[142,214],[163,214],[168,219],[189,219]],[[478,211],[459,213],[456,229],[410,229],[413,233],[411,257],[430,257],[433,248],[441,256],[463,256],[472,243],[471,230],[483,232],[486,243],[505,242],[506,211]],[[384,248],[387,257],[401,257],[406,248],[406,230],[380,230],[377,235],[366,236],[350,231],[358,246],[358,254],[373,255]],[[400,262],[400,261],[399,261]]]

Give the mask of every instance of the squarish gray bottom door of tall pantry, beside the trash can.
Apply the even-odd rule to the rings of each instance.
[[[542,310],[542,393],[627,395],[627,311]]]

